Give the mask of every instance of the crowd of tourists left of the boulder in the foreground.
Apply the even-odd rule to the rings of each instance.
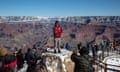
[[[25,53],[19,49],[16,53],[9,54],[7,48],[0,48],[0,72],[17,72],[24,67],[25,62],[28,65],[26,72],[40,72],[36,66],[46,68],[41,56],[43,51],[42,48],[28,48]]]

